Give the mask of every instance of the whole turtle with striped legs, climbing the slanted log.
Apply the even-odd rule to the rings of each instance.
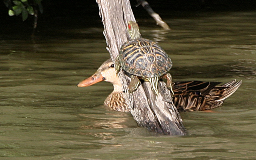
[[[172,94],[172,76],[167,73],[172,68],[172,61],[166,52],[152,40],[142,38],[136,22],[128,22],[127,27],[130,40],[125,42],[116,58],[116,73],[120,67],[131,74],[128,91],[133,92],[140,84],[139,79],[149,81],[152,90],[158,95],[158,80],[167,79],[167,87]]]

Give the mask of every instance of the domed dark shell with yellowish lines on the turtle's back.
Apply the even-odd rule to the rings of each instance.
[[[125,42],[119,62],[126,72],[140,77],[160,77],[172,68],[171,58],[152,40],[138,38]]]

